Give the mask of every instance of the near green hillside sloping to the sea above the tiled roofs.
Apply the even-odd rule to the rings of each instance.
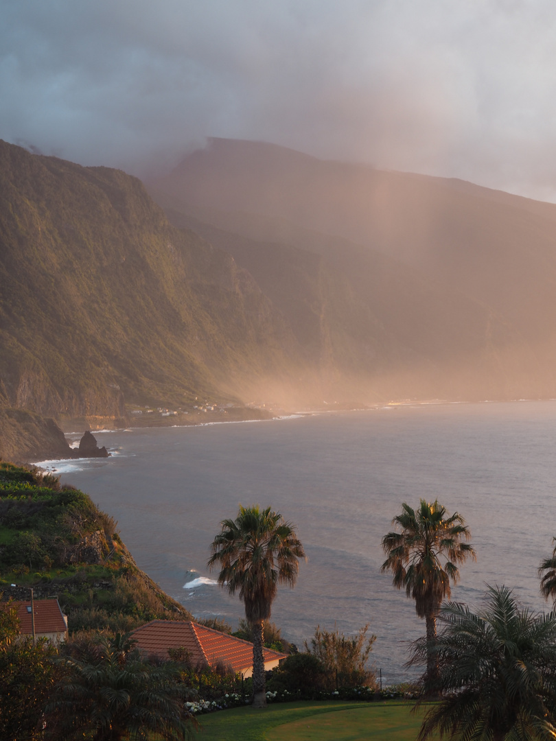
[[[0,462],[0,592],[56,595],[70,632],[128,631],[191,614],[137,568],[117,523],[54,476]],[[16,587],[11,586],[16,584]]]

